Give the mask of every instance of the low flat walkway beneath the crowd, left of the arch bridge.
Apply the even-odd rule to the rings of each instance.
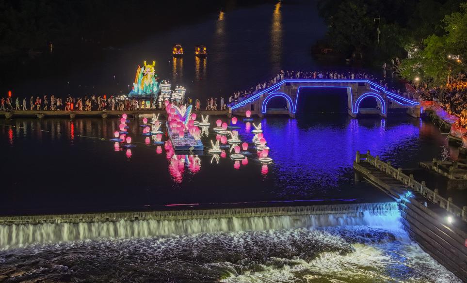
[[[228,110],[200,110],[192,111],[197,115],[229,115]],[[69,117],[71,119],[76,117],[102,117],[107,118],[109,116],[121,116],[123,113],[133,117],[139,118],[152,116],[152,114],[161,114],[165,116],[167,112],[165,110],[159,109],[139,109],[139,110],[93,110],[93,111],[62,111],[62,110],[10,110],[10,111],[0,111],[0,117],[4,116],[7,119],[14,117],[36,117],[36,118],[45,118],[45,117]]]

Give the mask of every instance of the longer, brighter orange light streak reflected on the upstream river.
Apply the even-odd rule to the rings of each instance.
[[[282,59],[282,15],[281,2],[275,4],[271,23],[271,71],[277,73],[281,69]]]

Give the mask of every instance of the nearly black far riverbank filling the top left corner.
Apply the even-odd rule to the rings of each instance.
[[[0,0],[0,54],[47,48],[49,43],[114,45],[247,4],[246,0]]]

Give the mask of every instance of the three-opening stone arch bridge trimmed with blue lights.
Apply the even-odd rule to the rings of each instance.
[[[297,102],[301,90],[306,88],[340,88],[347,90],[348,112],[352,117],[357,114],[379,114],[387,116],[390,108],[406,108],[407,113],[419,117],[420,106],[398,94],[386,91],[384,87],[366,79],[284,79],[257,94],[244,99],[230,107],[230,114],[244,115],[247,110],[262,117],[267,114],[289,114],[295,117]],[[311,94],[310,94],[311,95]],[[287,101],[287,109],[268,110],[268,103],[274,97],[282,97]],[[360,108],[363,99],[376,99],[377,108]]]

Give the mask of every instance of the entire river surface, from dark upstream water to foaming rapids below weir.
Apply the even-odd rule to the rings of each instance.
[[[240,8],[98,50],[89,54],[95,61],[13,88],[18,95],[126,93],[136,66],[156,60],[160,77],[184,85],[188,96],[226,97],[280,69],[319,67],[310,47],[324,32],[313,2]],[[209,56],[173,60],[176,43],[206,44]],[[210,117],[206,150],[186,155],[169,142],[152,144],[140,119],[128,122],[132,148],[108,140],[120,124],[114,117],[0,119],[0,215],[380,203],[296,218],[0,225],[0,282],[460,282],[410,240],[394,203],[352,168],[357,150],[403,168],[456,159],[446,136],[405,114],[353,119],[332,105],[310,114],[319,112],[314,106],[306,100],[296,119],[255,117],[268,165],[258,162],[253,123],[242,119],[239,138],[251,155],[234,161],[228,147],[208,153],[219,138],[212,127],[225,116]]]

